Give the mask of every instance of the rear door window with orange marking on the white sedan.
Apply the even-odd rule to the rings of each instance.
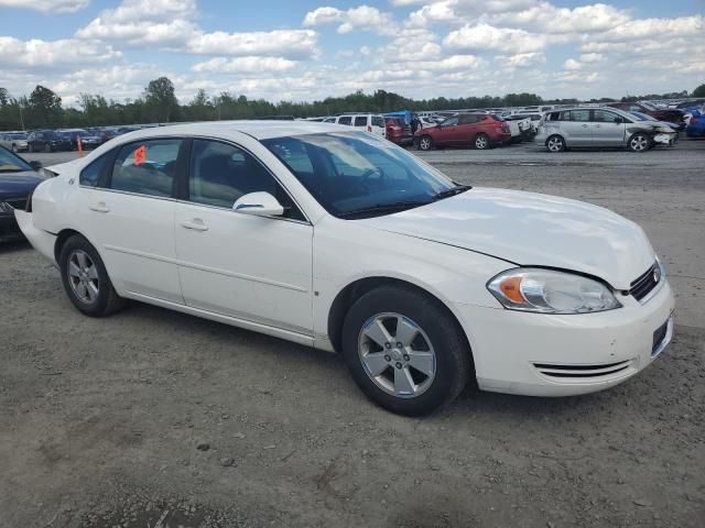
[[[149,196],[172,196],[181,140],[150,140],[120,148],[110,188]]]

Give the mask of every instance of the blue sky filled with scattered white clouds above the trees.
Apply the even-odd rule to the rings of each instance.
[[[0,86],[76,103],[169,76],[269,100],[620,97],[705,82],[705,1],[0,0]]]

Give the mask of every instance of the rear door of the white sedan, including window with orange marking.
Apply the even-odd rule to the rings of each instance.
[[[79,215],[110,278],[123,289],[183,304],[174,244],[181,139],[128,143],[80,176]],[[102,165],[101,165],[102,164]]]

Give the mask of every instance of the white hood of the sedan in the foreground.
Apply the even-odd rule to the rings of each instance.
[[[601,207],[534,193],[473,188],[359,222],[512,264],[586,273],[617,289],[629,289],[655,258],[643,230],[630,220]]]

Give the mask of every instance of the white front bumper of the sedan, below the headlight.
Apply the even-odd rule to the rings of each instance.
[[[598,314],[544,315],[456,305],[481,389],[528,396],[603,391],[651,364],[672,336],[668,280],[643,305]],[[658,342],[654,343],[654,336]]]

